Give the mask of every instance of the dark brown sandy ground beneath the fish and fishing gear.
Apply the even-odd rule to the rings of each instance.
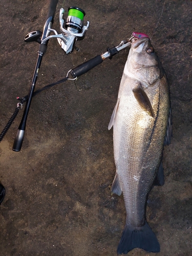
[[[79,52],[67,56],[52,39],[42,60],[36,89],[66,76],[68,70],[117,46],[133,31],[152,37],[162,1],[65,1],[90,20]],[[28,93],[37,43],[24,37],[42,30],[49,1],[2,0],[1,130]],[[59,32],[59,1],[53,28]],[[165,1],[152,43],[167,73],[173,110],[172,143],[164,150],[165,184],[155,187],[147,220],[160,253],[134,249],[128,255],[191,255],[191,18],[189,0]],[[113,131],[108,124],[129,49],[92,71],[32,100],[22,150],[12,151],[20,111],[0,144],[0,180],[6,197],[0,206],[1,255],[116,255],[125,210],[123,197],[111,196],[115,175]]]

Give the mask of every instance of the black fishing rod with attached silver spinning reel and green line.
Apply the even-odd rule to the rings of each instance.
[[[26,42],[36,41],[40,44],[40,46],[38,49],[38,57],[36,61],[35,70],[33,73],[31,87],[29,89],[29,94],[27,97],[24,114],[22,117],[22,121],[19,124],[18,131],[13,143],[12,149],[13,151],[16,151],[16,152],[20,151],[23,144],[29,108],[31,105],[31,100],[32,100],[34,89],[35,89],[35,84],[38,77],[38,72],[41,65],[42,57],[47,51],[49,39],[56,37],[61,48],[66,52],[66,54],[70,54],[73,51],[73,49],[78,50],[75,47],[76,41],[83,39],[84,34],[86,33],[89,27],[89,22],[87,22],[87,26],[82,27],[83,17],[84,15],[86,15],[86,13],[82,9],[78,7],[70,7],[69,15],[65,20],[63,16],[63,14],[65,13],[65,10],[61,8],[60,14],[59,14],[61,34],[58,34],[56,30],[52,29],[57,3],[58,3],[58,0],[50,1],[48,14],[47,14],[46,22],[44,25],[44,31],[43,32],[39,30],[33,31],[33,32],[30,32],[25,37]],[[50,35],[52,32],[54,33],[54,35]]]

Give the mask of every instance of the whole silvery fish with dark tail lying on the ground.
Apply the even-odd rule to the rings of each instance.
[[[116,174],[111,192],[123,194],[126,210],[117,253],[159,252],[146,204],[153,186],[164,184],[163,148],[172,137],[172,113],[167,76],[148,36],[132,39],[108,129],[112,126]]]

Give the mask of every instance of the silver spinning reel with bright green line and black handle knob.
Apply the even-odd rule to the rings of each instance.
[[[44,29],[44,33],[37,30],[27,34],[25,37],[25,42],[36,41],[41,45],[47,45],[50,38],[56,37],[59,45],[67,55],[72,53],[74,49],[78,51],[79,49],[75,46],[75,44],[77,40],[82,40],[84,38],[90,23],[87,21],[87,26],[83,26],[83,17],[86,15],[86,13],[82,9],[71,6],[69,7],[68,11],[68,17],[65,19],[65,10],[63,8],[60,9],[59,23],[61,34],[58,34],[56,30],[51,28],[51,26],[48,26],[47,31]],[[54,35],[50,35],[51,32],[53,32]]]

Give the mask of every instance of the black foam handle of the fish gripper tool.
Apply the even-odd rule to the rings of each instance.
[[[91,69],[95,68],[97,65],[99,65],[102,62],[103,62],[103,59],[102,59],[101,55],[97,55],[96,57],[94,57],[94,58],[80,64],[76,68],[72,69],[71,74],[74,78],[81,76],[81,75],[87,73],[88,71],[90,71]]]

